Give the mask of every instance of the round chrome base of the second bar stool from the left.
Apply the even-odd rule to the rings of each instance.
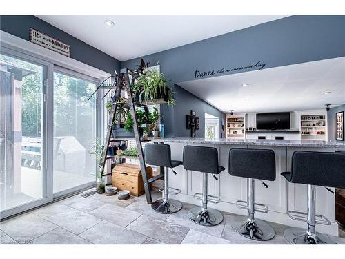
[[[201,207],[195,207],[188,211],[188,218],[195,224],[201,226],[215,226],[223,221],[223,215],[215,209],[203,210]]]

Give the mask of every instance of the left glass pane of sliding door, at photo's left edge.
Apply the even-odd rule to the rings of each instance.
[[[1,215],[48,197],[43,170],[45,79],[45,67],[0,54]]]

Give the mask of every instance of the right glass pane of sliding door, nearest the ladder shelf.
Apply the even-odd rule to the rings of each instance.
[[[54,73],[54,180],[53,192],[80,189],[95,182],[96,84]]]

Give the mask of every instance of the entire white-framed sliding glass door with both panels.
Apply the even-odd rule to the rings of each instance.
[[[95,186],[98,84],[1,46],[0,218]]]

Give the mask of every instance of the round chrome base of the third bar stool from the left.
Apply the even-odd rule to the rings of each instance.
[[[248,217],[238,216],[231,220],[231,226],[241,236],[252,240],[265,241],[275,236],[273,227],[270,227],[264,220],[255,219],[250,222]]]

